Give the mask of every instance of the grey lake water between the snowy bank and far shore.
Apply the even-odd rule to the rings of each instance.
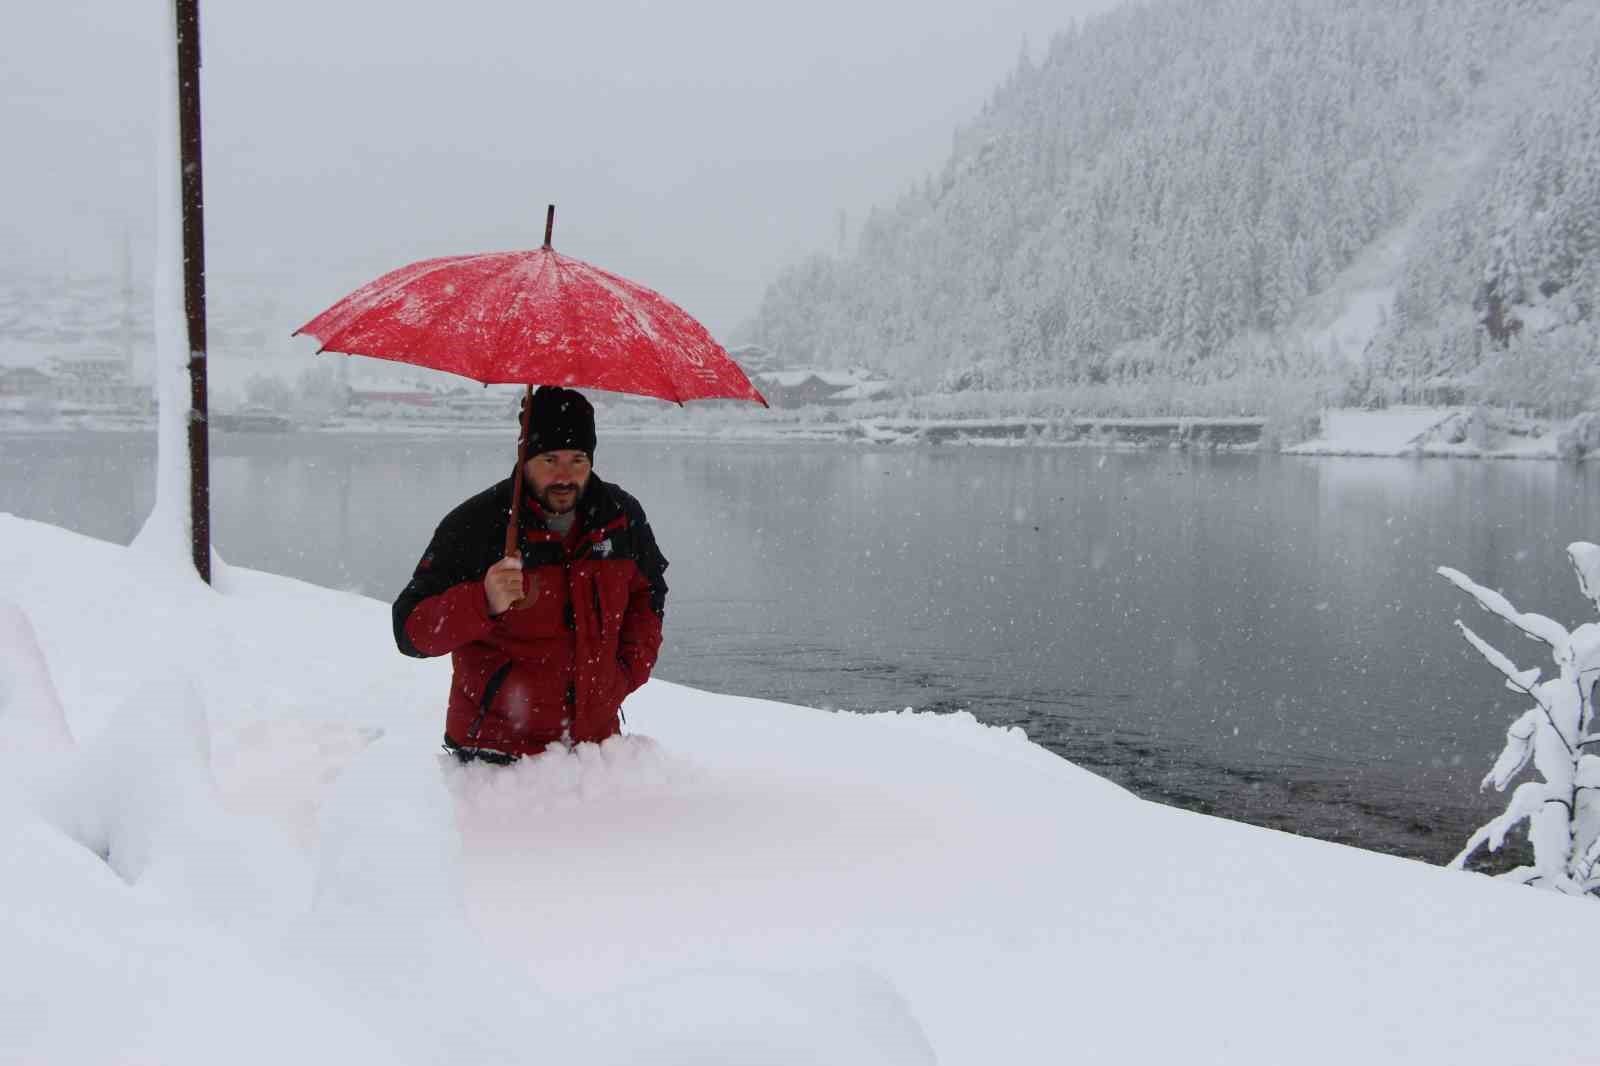
[[[509,437],[216,435],[216,547],[389,600]],[[0,511],[125,543],[154,447],[0,437]],[[595,469],[672,563],[661,677],[966,709],[1141,795],[1430,861],[1501,808],[1477,783],[1522,707],[1453,619],[1547,663],[1434,567],[1592,616],[1565,546],[1600,491],[1568,464],[602,432]]]

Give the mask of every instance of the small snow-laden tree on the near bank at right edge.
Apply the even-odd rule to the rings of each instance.
[[[1566,546],[1578,571],[1578,586],[1600,610],[1600,547],[1582,541]],[[1461,869],[1480,847],[1499,850],[1506,834],[1523,821],[1533,844],[1533,866],[1518,866],[1501,877],[1568,895],[1600,893],[1600,731],[1595,728],[1594,685],[1600,679],[1600,624],[1584,623],[1568,631],[1544,615],[1518,611],[1510,600],[1486,589],[1459,570],[1438,568],[1440,576],[1464,591],[1478,607],[1541,640],[1550,648],[1557,674],[1539,680],[1539,667],[1517,669],[1502,651],[1456,621],[1461,635],[1506,679],[1506,687],[1533,699],[1533,706],[1506,731],[1506,747],[1478,787],[1506,786],[1531,760],[1541,779],[1523,781],[1498,818],[1480,828],[1451,861]]]

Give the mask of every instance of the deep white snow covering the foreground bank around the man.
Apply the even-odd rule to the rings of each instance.
[[[1594,1061],[1589,903],[965,714],[651,682],[462,770],[446,679],[384,603],[0,515],[0,1061]]]

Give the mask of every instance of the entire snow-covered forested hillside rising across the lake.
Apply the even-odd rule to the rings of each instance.
[[[1592,0],[1131,5],[1024,54],[742,336],[920,391],[1526,402],[1504,360],[1597,354],[1597,85]]]

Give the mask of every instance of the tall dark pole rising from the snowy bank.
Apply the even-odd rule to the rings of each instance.
[[[200,0],[174,0],[178,141],[184,197],[184,315],[189,323],[189,519],[195,570],[211,581],[211,445],[205,379],[205,197],[200,184]]]

